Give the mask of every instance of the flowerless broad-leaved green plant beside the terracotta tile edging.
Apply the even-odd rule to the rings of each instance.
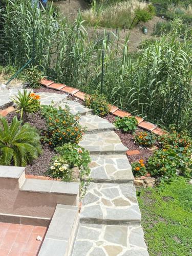
[[[132,116],[128,117],[125,116],[123,118],[116,117],[116,121],[114,122],[114,125],[117,129],[123,130],[124,132],[135,132],[137,129],[138,121],[137,119]]]

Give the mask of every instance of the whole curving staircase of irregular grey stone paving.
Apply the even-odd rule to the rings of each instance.
[[[78,102],[70,104],[70,109],[83,113],[80,123],[87,132],[79,144],[90,151],[92,159],[92,180],[82,200],[71,255],[148,255],[127,148],[113,131],[113,124],[90,114],[90,110],[86,113]]]

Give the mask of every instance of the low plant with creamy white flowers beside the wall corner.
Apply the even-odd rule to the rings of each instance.
[[[48,174],[52,178],[60,178],[64,181],[71,181],[73,175],[70,165],[61,156],[56,156],[52,159]]]

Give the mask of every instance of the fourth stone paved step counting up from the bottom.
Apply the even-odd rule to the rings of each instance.
[[[79,145],[90,154],[122,154],[128,150],[114,131],[84,134]]]

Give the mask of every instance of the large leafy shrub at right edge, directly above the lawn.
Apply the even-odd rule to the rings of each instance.
[[[191,159],[183,154],[183,148],[165,148],[148,158],[147,170],[155,177],[171,178],[177,172],[191,173]]]

